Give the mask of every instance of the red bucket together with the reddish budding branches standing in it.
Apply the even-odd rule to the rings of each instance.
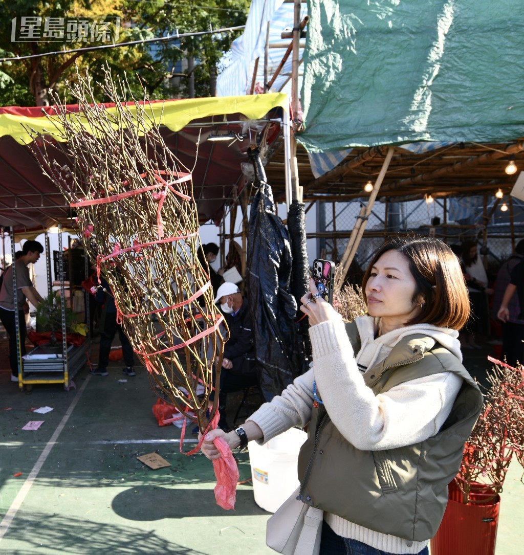
[[[524,369],[488,359],[495,363],[488,375],[490,387],[460,470],[449,485],[446,512],[431,540],[432,555],[495,553],[506,472],[513,455],[524,463]]]

